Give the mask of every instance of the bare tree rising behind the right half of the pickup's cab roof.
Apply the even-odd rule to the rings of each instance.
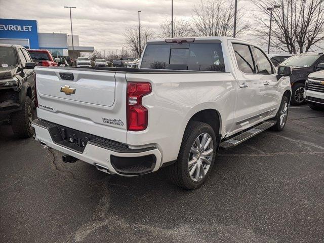
[[[242,23],[241,10],[237,11],[236,36],[244,33],[248,23]],[[233,36],[234,1],[199,0],[193,8],[190,29],[196,36]]]

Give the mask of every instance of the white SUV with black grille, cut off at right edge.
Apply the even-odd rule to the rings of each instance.
[[[308,75],[304,91],[306,103],[314,110],[324,110],[324,63],[318,64],[319,68],[323,70]]]

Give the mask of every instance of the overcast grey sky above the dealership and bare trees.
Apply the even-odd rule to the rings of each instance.
[[[234,0],[233,0],[234,1]],[[174,17],[189,18],[198,0],[174,0]],[[249,1],[240,1],[246,6]],[[25,4],[23,4],[25,3]],[[23,4],[23,6],[22,6]],[[125,28],[138,24],[158,31],[159,24],[171,19],[171,0],[0,0],[0,17],[38,21],[39,32],[70,33],[69,9],[73,6],[73,34],[79,35],[81,46],[96,49],[120,49],[125,43]]]

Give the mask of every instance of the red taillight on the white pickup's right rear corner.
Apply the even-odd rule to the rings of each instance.
[[[150,83],[127,83],[127,130],[142,131],[147,128],[148,111],[142,105],[142,97],[151,91]]]

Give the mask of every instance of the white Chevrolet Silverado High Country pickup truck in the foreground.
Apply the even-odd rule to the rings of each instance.
[[[229,37],[149,41],[140,68],[36,67],[35,139],[121,176],[169,166],[195,189],[228,149],[286,124],[290,67]]]

